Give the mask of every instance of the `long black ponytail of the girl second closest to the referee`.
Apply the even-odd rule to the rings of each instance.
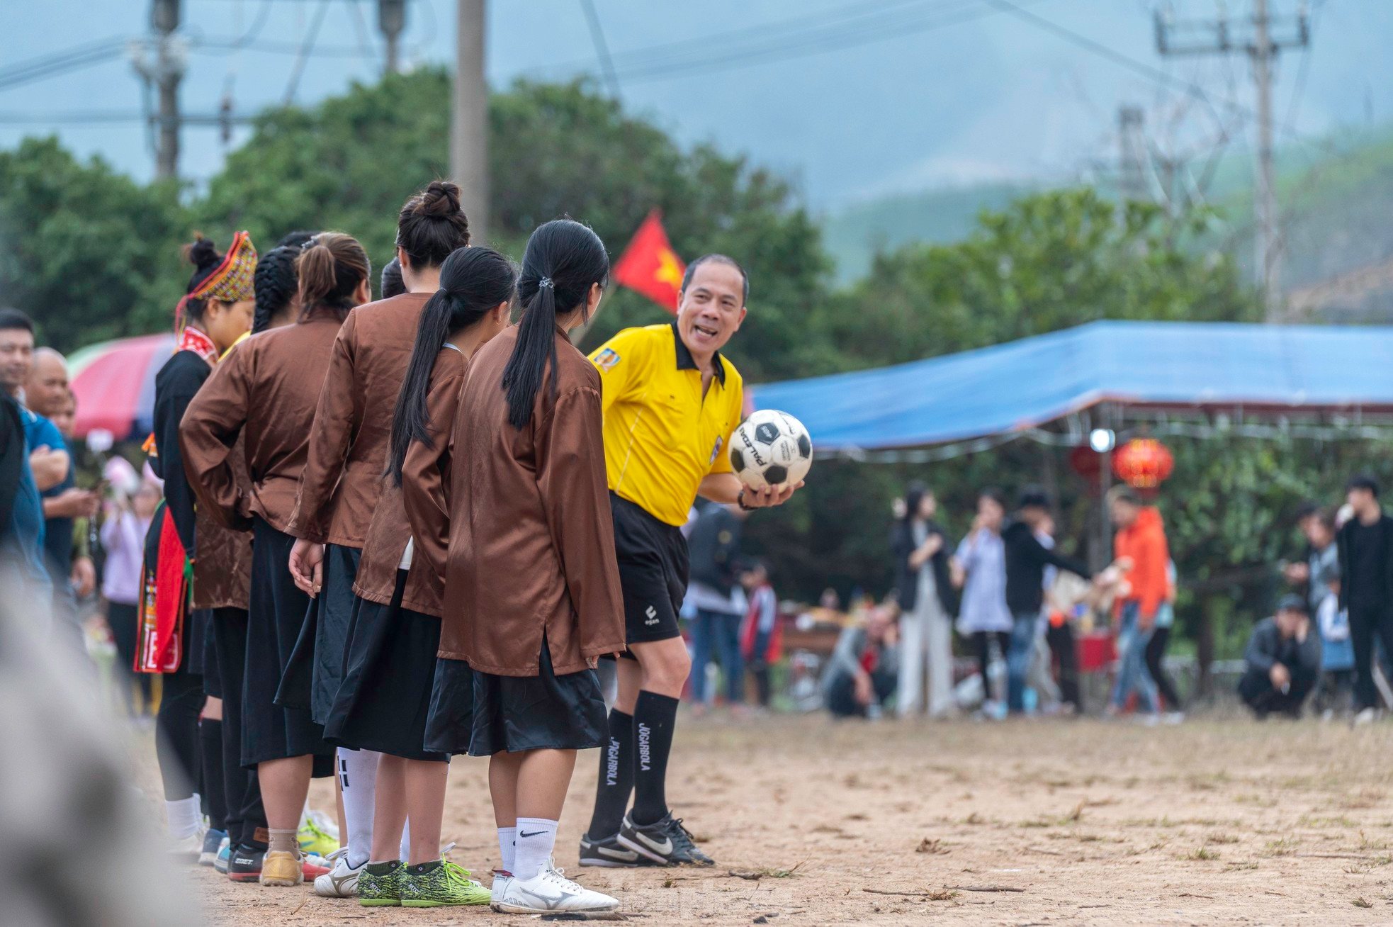
[[[440,289],[421,309],[417,343],[391,414],[387,474],[396,485],[401,485],[401,466],[411,442],[435,446],[426,417],[426,396],[440,346],[447,337],[478,323],[500,302],[510,302],[515,291],[517,268],[493,248],[458,248],[440,265]]]

